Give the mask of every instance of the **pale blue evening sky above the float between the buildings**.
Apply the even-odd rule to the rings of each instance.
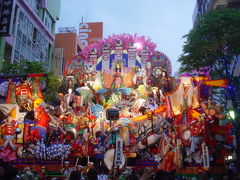
[[[184,39],[192,28],[195,0],[62,0],[58,27],[76,27],[84,22],[103,22],[104,37],[137,33],[150,37],[158,51],[171,60],[173,73]],[[56,29],[56,31],[57,31]]]

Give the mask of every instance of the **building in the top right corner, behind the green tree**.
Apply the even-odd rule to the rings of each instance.
[[[240,9],[240,0],[197,0],[193,12],[193,25],[195,26],[201,15],[211,9],[236,8]]]

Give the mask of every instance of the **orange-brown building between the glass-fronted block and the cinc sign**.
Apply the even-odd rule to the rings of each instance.
[[[55,69],[54,71],[58,71],[59,74],[63,73],[65,65],[70,61],[74,56],[80,54],[83,50],[83,44],[81,43],[79,36],[77,34],[77,30],[72,27],[64,27],[59,28],[59,33],[55,36],[55,54],[54,64],[55,68],[59,68],[60,64],[62,65],[62,72],[59,72],[59,69]],[[57,58],[62,53],[63,58]],[[62,62],[60,62],[62,61]],[[59,76],[58,74],[58,76]],[[56,74],[57,75],[57,74]]]

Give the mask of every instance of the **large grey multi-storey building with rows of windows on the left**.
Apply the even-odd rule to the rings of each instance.
[[[43,61],[51,70],[61,0],[0,1],[1,67],[2,61],[14,63],[26,59]],[[6,17],[8,12],[11,13]]]

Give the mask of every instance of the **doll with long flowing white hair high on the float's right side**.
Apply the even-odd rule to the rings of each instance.
[[[197,88],[194,87],[193,78],[189,76],[181,76],[181,82],[175,93],[167,98],[168,107],[173,111],[175,116],[175,124],[191,123],[190,109],[199,107],[197,100]]]

